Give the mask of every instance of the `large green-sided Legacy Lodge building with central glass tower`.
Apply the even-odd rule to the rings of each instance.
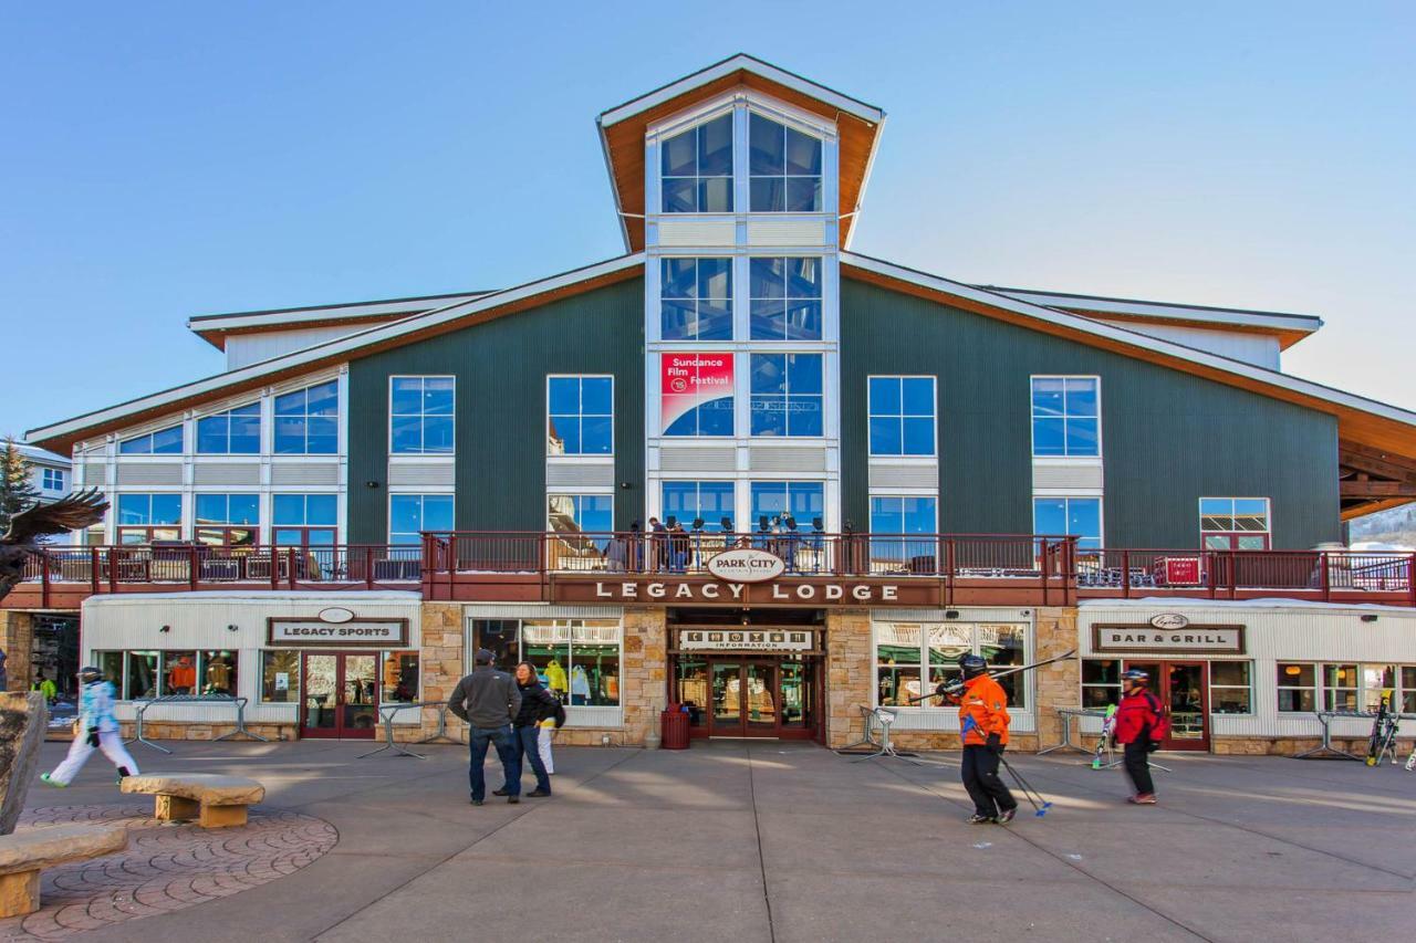
[[[1024,749],[1130,665],[1174,749],[1294,752],[1383,690],[1416,712],[1416,555],[1342,544],[1416,500],[1416,413],[1284,374],[1318,319],[857,252],[885,113],[746,55],[598,126],[624,255],[194,317],[224,372],[31,430],[112,511],[34,558],[6,648],[76,617],[126,719],[234,695],[285,739],[381,708],[433,736],[436,708],[392,708],[476,647],[535,664],[583,743],[683,704],[695,736],[838,746],[891,707],[949,746],[912,698],[967,651],[1079,650],[1008,680]]]

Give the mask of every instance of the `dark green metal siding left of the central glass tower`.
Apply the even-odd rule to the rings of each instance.
[[[456,525],[545,530],[545,377],[615,375],[615,521],[641,517],[644,494],[644,280],[641,278],[416,341],[350,364],[351,542],[388,531],[388,378],[457,378]],[[365,483],[377,481],[378,487]]]

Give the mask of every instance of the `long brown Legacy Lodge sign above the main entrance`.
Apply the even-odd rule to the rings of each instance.
[[[891,583],[868,579],[800,578],[752,583],[719,582],[694,576],[593,579],[552,575],[551,600],[558,603],[716,603],[725,606],[871,605],[925,609],[942,605],[940,585],[932,579],[918,583]]]

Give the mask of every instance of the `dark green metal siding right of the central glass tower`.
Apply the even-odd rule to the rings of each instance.
[[[1109,547],[1197,547],[1202,496],[1272,498],[1274,548],[1340,537],[1334,416],[843,280],[843,513],[858,528],[869,524],[871,374],[939,378],[944,532],[1031,532],[1029,377],[1093,374],[1102,378]]]

